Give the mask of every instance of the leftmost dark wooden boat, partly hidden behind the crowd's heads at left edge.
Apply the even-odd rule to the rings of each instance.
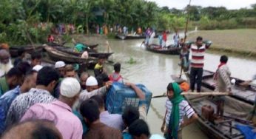
[[[24,51],[31,54],[33,52],[41,52],[43,50],[42,46],[32,46],[32,45],[24,45],[24,46],[12,46],[9,49],[10,55],[12,58],[15,58],[18,56],[18,50],[24,48]]]

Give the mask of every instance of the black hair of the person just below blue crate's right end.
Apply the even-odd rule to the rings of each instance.
[[[129,126],[134,121],[136,121],[138,118],[140,118],[140,112],[138,112],[138,108],[136,108],[135,106],[127,106],[124,109],[122,118],[123,118],[124,123],[126,123],[127,126]]]

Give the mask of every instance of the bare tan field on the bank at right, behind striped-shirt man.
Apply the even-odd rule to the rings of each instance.
[[[235,56],[256,58],[256,30],[200,30],[188,36],[187,40],[195,40],[201,35],[204,40],[211,40],[210,51]]]

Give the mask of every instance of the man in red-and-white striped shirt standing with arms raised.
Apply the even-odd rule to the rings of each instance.
[[[192,52],[191,70],[190,70],[190,89],[195,90],[197,84],[197,92],[201,92],[201,82],[203,77],[204,54],[210,44],[203,44],[203,38],[198,36],[195,44],[191,44],[189,48]]]

